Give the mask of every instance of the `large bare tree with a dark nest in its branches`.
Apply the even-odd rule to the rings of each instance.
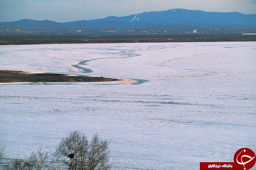
[[[108,169],[108,142],[94,135],[92,142],[88,144],[85,134],[75,130],[61,140],[54,156],[56,161],[64,163],[70,170]]]

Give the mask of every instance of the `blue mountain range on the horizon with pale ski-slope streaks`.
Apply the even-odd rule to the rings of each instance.
[[[204,12],[187,9],[170,9],[160,12],[143,12],[130,16],[109,16],[103,19],[81,20],[66,23],[22,19],[0,22],[0,29],[66,30],[92,28],[145,28],[159,26],[222,26],[256,27],[256,14],[238,12]]]

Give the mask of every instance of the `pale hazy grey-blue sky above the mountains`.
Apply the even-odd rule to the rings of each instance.
[[[256,0],[0,0],[0,22],[67,22],[175,8],[256,14]]]

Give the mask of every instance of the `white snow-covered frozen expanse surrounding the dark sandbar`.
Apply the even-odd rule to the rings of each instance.
[[[7,157],[70,130],[109,141],[113,169],[199,169],[256,151],[256,42],[0,47],[0,69],[123,79],[0,84]]]

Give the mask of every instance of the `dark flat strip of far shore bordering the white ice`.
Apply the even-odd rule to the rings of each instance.
[[[2,35],[0,45],[137,43],[137,42],[237,42],[256,41],[256,35],[218,34],[140,34],[140,35]]]

